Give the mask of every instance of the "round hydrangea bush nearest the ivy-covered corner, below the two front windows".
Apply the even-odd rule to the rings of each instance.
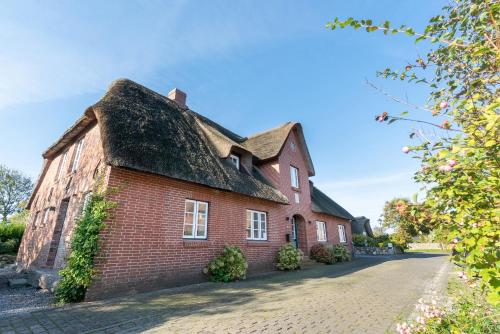
[[[222,254],[210,261],[203,272],[210,276],[213,282],[231,282],[245,279],[248,263],[239,247],[224,247]]]

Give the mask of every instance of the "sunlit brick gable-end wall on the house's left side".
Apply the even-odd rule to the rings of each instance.
[[[78,170],[71,172],[72,157],[76,150],[76,142],[82,138],[84,146],[81,153]],[[68,149],[67,160],[59,179],[56,178],[64,151]],[[34,194],[30,208],[30,218],[19,248],[17,261],[21,267],[45,267],[52,241],[59,206],[63,199],[69,198],[69,207],[64,222],[54,268],[64,267],[69,251],[73,222],[80,211],[84,194],[91,190],[94,171],[103,157],[99,125],[90,126],[80,137],[51,160],[47,160],[47,171],[39,180],[40,186]],[[69,185],[69,187],[68,187]],[[52,195],[49,199],[49,194]],[[44,210],[52,208],[45,224],[42,222]],[[34,218],[38,212],[38,223]]]

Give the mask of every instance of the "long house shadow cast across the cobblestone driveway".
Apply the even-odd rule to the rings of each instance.
[[[296,272],[275,272],[229,284],[210,283],[183,290],[163,290],[110,301],[82,303],[17,316],[10,321],[41,323],[49,332],[89,333],[94,331],[139,333],[173,318],[224,314],[255,300],[266,291],[300,286],[305,281],[346,276],[387,261],[443,257],[446,254],[411,253],[392,257],[363,257],[331,266],[313,265]],[[321,282],[318,282],[320,284]],[[281,298],[286,298],[283,294]],[[280,298],[278,296],[278,298]],[[43,320],[43,321],[42,321]]]

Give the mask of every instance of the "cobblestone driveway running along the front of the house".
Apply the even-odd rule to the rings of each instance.
[[[1,333],[384,333],[446,256],[361,258],[0,319]]]

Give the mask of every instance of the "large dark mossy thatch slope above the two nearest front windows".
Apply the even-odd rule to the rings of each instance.
[[[220,159],[197,114],[146,87],[117,80],[90,109],[113,166],[288,204],[277,189]]]

